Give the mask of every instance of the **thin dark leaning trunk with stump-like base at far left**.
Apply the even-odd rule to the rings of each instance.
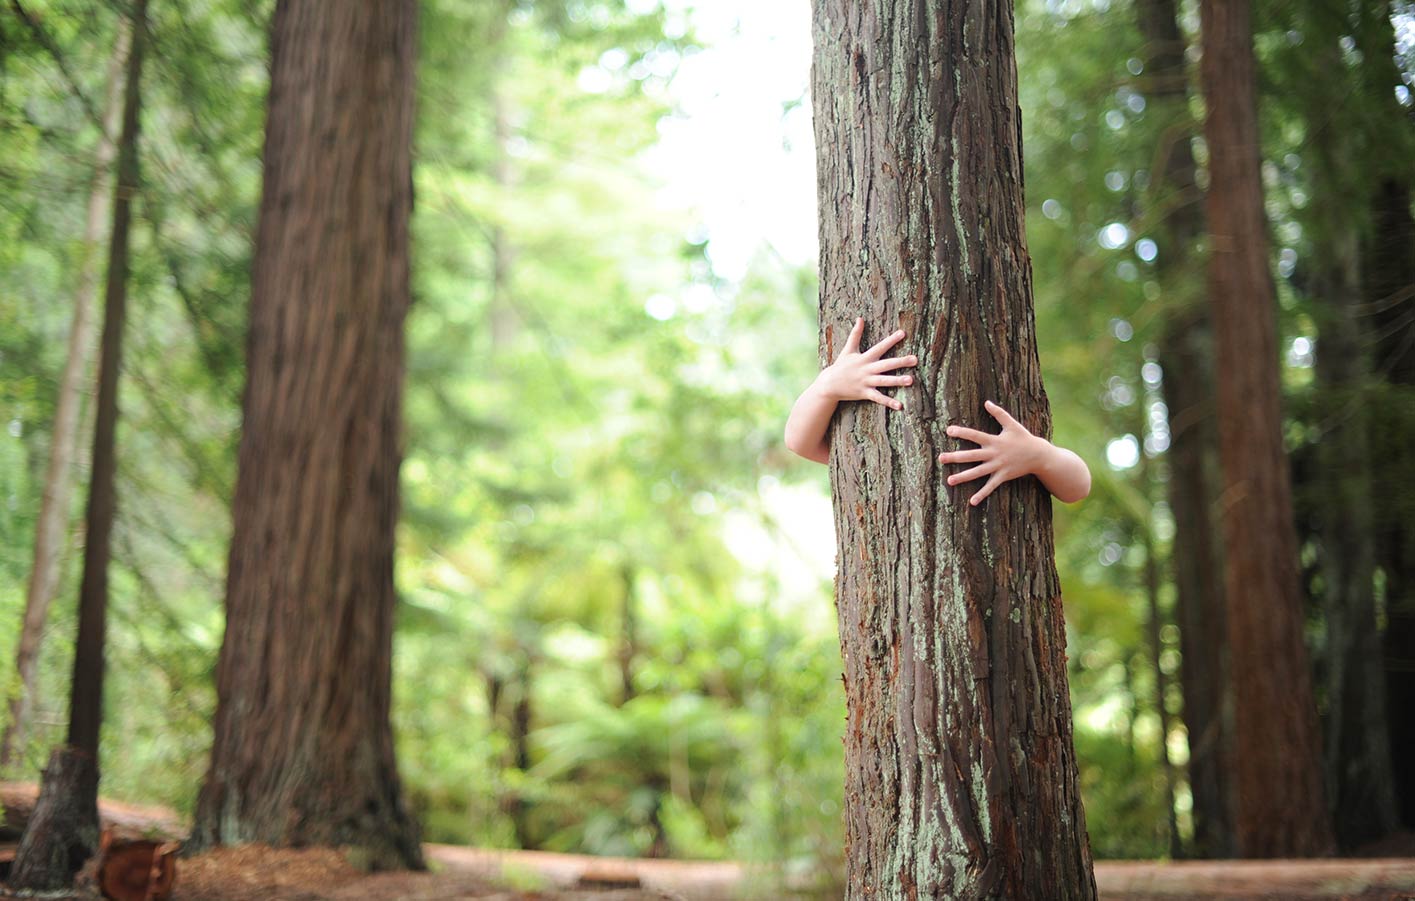
[[[103,341],[99,355],[98,422],[93,427],[93,472],[89,478],[88,540],[79,587],[79,634],[74,649],[69,731],[44,769],[34,815],[25,823],[14,867],[13,890],[68,888],[74,874],[98,849],[99,727],[103,721],[103,641],[108,615],[108,563],[113,532],[113,491],[117,460],[117,382],[123,359],[127,307],[129,223],[133,195],[140,188],[137,165],[139,105],[147,0],[133,7],[132,51],[123,95],[123,132],[113,187],[113,228],[109,235],[108,289],[103,297]]]

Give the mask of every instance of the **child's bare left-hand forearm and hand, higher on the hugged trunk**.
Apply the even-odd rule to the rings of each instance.
[[[873,400],[893,410],[904,407],[899,400],[886,396],[880,388],[910,385],[911,375],[884,375],[893,369],[913,366],[916,356],[882,359],[884,351],[904,339],[903,331],[896,331],[870,349],[860,352],[860,335],[865,320],[855,320],[855,328],[845,341],[845,348],[829,366],[815,376],[815,380],[801,392],[791,414],[787,417],[785,441],[794,453],[828,463],[831,460],[831,416],[842,400]]]

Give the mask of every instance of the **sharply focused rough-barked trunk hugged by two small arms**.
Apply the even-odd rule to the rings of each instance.
[[[903,412],[832,426],[848,724],[848,897],[1094,898],[1051,498],[983,504],[935,463],[996,429],[1050,437],[1023,233],[1010,4],[815,3],[821,354],[863,314],[918,355]],[[971,444],[969,444],[971,446]]]

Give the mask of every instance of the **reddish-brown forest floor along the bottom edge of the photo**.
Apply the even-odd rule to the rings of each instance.
[[[34,805],[33,782],[0,782],[13,842]],[[102,801],[100,819],[119,837],[181,839],[167,808]],[[4,847],[4,844],[0,844]],[[508,851],[427,843],[426,873],[365,873],[338,849],[260,844],[178,857],[171,901],[729,901],[809,895],[763,884],[761,873],[732,861],[638,860],[548,851]],[[1415,836],[1375,849],[1381,857],[1286,861],[1099,861],[1101,901],[1415,901]],[[64,895],[99,898],[93,861]],[[0,884],[0,901],[13,898]],[[54,895],[51,895],[54,897]],[[822,895],[815,895],[822,897]]]

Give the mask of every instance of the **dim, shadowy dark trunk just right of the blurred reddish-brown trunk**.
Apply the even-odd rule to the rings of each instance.
[[[1334,14],[1333,14],[1334,13]],[[1358,315],[1363,298],[1358,236],[1370,215],[1373,181],[1353,158],[1363,149],[1360,122],[1339,119],[1348,81],[1337,35],[1347,14],[1310,13],[1323,35],[1306,51],[1329,76],[1309,92],[1307,168],[1313,245],[1312,297],[1317,325],[1316,383],[1322,434],[1316,482],[1322,607],[1326,618],[1326,786],[1332,823],[1343,849],[1395,832],[1395,782],[1385,723],[1385,668],[1375,622],[1375,525],[1367,409],[1370,335]],[[1324,18],[1330,16],[1330,20]],[[1323,17],[1323,18],[1316,18]]]

